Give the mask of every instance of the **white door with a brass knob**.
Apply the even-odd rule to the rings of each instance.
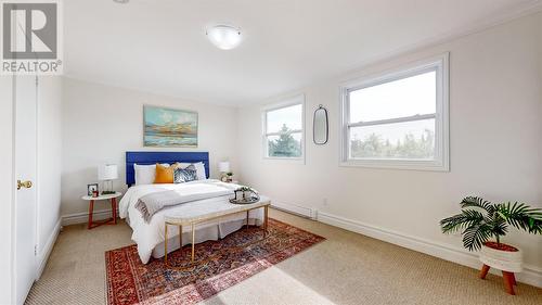
[[[25,302],[36,278],[37,80],[15,79],[15,296]]]

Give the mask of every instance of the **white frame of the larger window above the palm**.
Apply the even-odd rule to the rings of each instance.
[[[450,135],[449,135],[449,58],[443,53],[430,59],[403,65],[391,71],[357,78],[340,85],[340,126],[339,126],[339,165],[371,168],[412,169],[412,170],[450,170]],[[391,82],[436,71],[436,113],[372,120],[367,123],[350,123],[351,91]],[[387,125],[401,122],[413,122],[423,118],[435,118],[435,157],[433,160],[415,158],[351,158],[350,128],[358,126]]]

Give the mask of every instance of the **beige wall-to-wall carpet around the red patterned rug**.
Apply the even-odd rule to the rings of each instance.
[[[289,214],[271,217],[327,240],[232,287],[206,304],[542,304],[542,289],[502,278]],[[104,251],[131,244],[120,223],[64,228],[26,304],[104,304]]]

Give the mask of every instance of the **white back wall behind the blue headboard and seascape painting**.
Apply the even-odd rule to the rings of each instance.
[[[211,177],[217,163],[230,160],[236,171],[236,110],[183,101],[76,79],[64,79],[62,215],[88,213],[81,201],[87,185],[96,181],[100,164],[119,166],[115,190],[125,191],[125,152],[208,151]],[[143,105],[159,105],[198,113],[197,149],[143,148]],[[104,203],[102,203],[104,204]],[[95,211],[106,206],[95,206]]]

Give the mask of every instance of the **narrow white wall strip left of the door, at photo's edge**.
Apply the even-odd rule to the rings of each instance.
[[[13,84],[0,76],[0,304],[12,300],[12,224],[13,224]]]

